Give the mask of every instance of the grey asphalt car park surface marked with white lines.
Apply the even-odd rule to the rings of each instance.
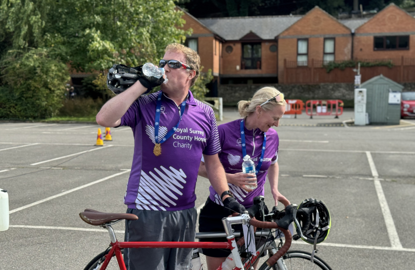
[[[225,109],[223,122],[237,117]],[[278,189],[291,203],[314,197],[327,204],[331,229],[317,255],[332,269],[413,269],[415,120],[352,126],[352,117],[345,111],[338,119],[281,119]],[[0,232],[0,269],[83,269],[107,247],[106,230],[78,214],[125,212],[133,137],[129,127],[112,128],[113,140],[96,147],[98,127],[0,123],[0,188],[10,208],[10,228]],[[198,178],[198,208],[208,186]],[[267,183],[265,190],[271,205]],[[122,222],[114,229],[123,239]],[[299,241],[291,249],[311,251]]]

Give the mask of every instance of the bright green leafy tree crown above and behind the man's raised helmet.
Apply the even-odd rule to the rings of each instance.
[[[80,71],[157,62],[167,44],[189,33],[178,28],[182,11],[171,0],[66,0],[55,6],[45,43]]]

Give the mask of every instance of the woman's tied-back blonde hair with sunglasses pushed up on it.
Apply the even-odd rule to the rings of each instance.
[[[262,104],[263,102],[265,102],[266,100],[274,97],[275,95],[281,93],[280,91],[278,91],[277,89],[275,89],[274,87],[263,87],[260,88],[259,90],[257,90],[252,98],[250,100],[240,100],[238,102],[238,110],[239,110],[239,114],[242,117],[247,116],[248,114],[250,114],[251,112],[255,111],[256,106]],[[280,105],[280,106],[285,106],[286,102],[285,99],[283,99],[282,101],[276,102],[275,100],[272,100],[264,105],[262,105],[262,108],[264,110],[272,110],[273,107],[275,105]]]

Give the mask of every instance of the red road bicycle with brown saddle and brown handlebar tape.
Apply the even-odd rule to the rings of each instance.
[[[295,222],[297,234],[293,236],[293,239],[305,238],[302,233],[302,228],[300,222],[296,217],[296,205],[288,205],[284,210],[277,211],[274,207],[271,213],[265,214],[263,212],[263,197],[254,200],[254,205],[248,209],[252,216],[254,216],[259,210],[262,210],[263,220],[268,221],[259,221],[255,218],[249,217],[247,213],[226,217],[222,219],[222,223],[225,229],[225,232],[196,232],[196,238],[210,238],[210,237],[226,237],[227,242],[119,242],[116,239],[112,225],[123,220],[135,220],[138,217],[134,214],[128,213],[103,213],[91,209],[85,209],[85,211],[79,213],[81,219],[88,224],[98,225],[103,228],[106,228],[109,233],[111,243],[109,247],[96,255],[84,268],[84,270],[105,270],[105,269],[121,269],[125,270],[125,264],[123,261],[123,248],[140,248],[140,247],[151,247],[151,248],[225,248],[230,249],[231,254],[228,258],[219,266],[218,269],[227,270],[227,269],[253,269],[252,265],[259,259],[260,255],[268,252],[268,259],[259,267],[259,270],[267,269],[279,269],[287,270],[289,269],[323,269],[331,270],[330,266],[325,263],[321,258],[314,255],[314,252],[309,253],[301,250],[290,250],[288,251],[291,244],[291,233],[288,230],[289,224]],[[260,215],[259,214],[259,215]],[[318,220],[318,211],[317,216],[314,222],[318,224],[315,220]],[[303,220],[303,223],[310,222],[309,219]],[[258,228],[265,228],[262,230],[256,230],[254,232],[255,236],[264,237],[265,242],[256,248],[254,254],[248,254],[246,258],[241,259],[240,253],[245,251],[243,248],[244,237],[240,238],[237,242],[235,237],[240,236],[239,231],[234,231],[231,228],[232,224],[247,224],[252,225]],[[304,224],[302,224],[304,225]],[[306,225],[305,225],[306,226]],[[272,230],[276,229],[276,230]],[[273,234],[275,232],[275,236]],[[305,232],[304,232],[305,233]],[[285,242],[282,243],[282,238],[279,236],[285,237]],[[318,236],[318,234],[317,234]],[[275,243],[275,239],[279,237],[279,243]],[[315,244],[314,244],[315,249]],[[266,253],[265,253],[266,254]],[[112,259],[116,257],[116,263]],[[110,262],[114,262],[109,264]],[[108,266],[110,268],[108,268]],[[305,268],[306,266],[306,268]],[[287,268],[288,267],[288,268]],[[194,269],[193,269],[194,270]],[[196,269],[199,270],[199,269]]]

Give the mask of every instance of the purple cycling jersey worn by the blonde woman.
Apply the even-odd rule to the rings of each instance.
[[[218,126],[219,140],[221,152],[219,153],[220,162],[227,173],[242,172],[242,145],[240,138],[240,121],[237,119],[228,123],[224,123]],[[244,126],[245,132],[245,144],[246,154],[248,154],[255,166],[259,162],[262,150],[263,133],[259,129],[248,130]],[[229,190],[235,195],[237,201],[243,206],[250,207],[253,203],[253,198],[258,195],[264,194],[264,183],[268,167],[275,163],[278,154],[278,134],[272,128],[266,131],[266,145],[265,152],[262,161],[262,165],[259,168],[259,172],[256,175],[258,187],[251,192],[247,192],[239,186],[228,183]],[[209,187],[209,197],[217,204],[223,205],[220,195],[214,191],[213,187]]]

